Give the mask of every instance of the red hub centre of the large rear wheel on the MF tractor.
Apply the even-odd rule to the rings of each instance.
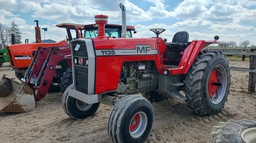
[[[218,86],[213,85],[213,83],[219,83],[218,72],[215,70],[213,70],[212,73],[210,73],[210,79],[208,84],[208,94],[210,98],[213,97],[213,95],[217,92],[217,89],[218,89]]]

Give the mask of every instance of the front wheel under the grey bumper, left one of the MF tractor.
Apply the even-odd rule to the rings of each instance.
[[[73,84],[69,85],[67,89],[73,89]],[[85,119],[92,116],[100,106],[100,102],[87,104],[76,98],[68,95],[68,90],[65,90],[62,97],[62,106],[65,113],[73,119]]]

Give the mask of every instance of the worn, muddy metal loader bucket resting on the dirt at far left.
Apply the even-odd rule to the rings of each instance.
[[[30,86],[4,75],[0,81],[0,112],[28,112],[34,107],[35,99]]]

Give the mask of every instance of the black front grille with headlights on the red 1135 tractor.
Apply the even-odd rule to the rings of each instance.
[[[75,50],[76,45],[79,44],[79,50]],[[75,76],[75,88],[77,91],[88,94],[88,66],[85,66],[85,60],[88,59],[88,53],[86,50],[86,44],[84,41],[73,42],[73,59],[82,59],[83,63],[80,65],[73,63],[74,76]],[[74,60],[73,60],[74,61]]]

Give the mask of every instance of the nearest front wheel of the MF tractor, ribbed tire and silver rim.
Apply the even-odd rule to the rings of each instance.
[[[154,123],[154,110],[146,98],[129,95],[113,107],[108,119],[108,134],[112,142],[144,142]]]

